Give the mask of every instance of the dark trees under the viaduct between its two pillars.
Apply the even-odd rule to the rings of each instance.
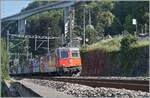
[[[27,19],[27,32],[30,35],[48,35],[48,27],[50,27],[50,37],[61,37],[63,31],[63,10],[55,9],[45,11],[43,13],[33,15]],[[51,40],[50,49],[53,50],[60,46],[60,40]],[[34,40],[30,40],[30,52],[34,54],[44,54],[47,51],[40,48],[38,51],[34,51]],[[47,43],[43,44],[42,47],[47,47]]]

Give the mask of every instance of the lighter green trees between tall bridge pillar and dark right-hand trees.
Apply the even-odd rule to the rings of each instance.
[[[85,6],[86,5],[86,6]],[[105,30],[112,24],[114,15],[111,13],[111,10],[113,8],[113,2],[112,1],[91,1],[91,2],[84,2],[77,4],[75,7],[75,19],[76,19],[76,28],[81,29],[75,29],[76,33],[79,36],[83,36],[83,17],[84,17],[84,8],[86,9],[85,13],[85,25],[88,25],[88,19],[89,19],[89,9],[91,12],[91,22],[94,26],[96,33],[90,33],[91,30],[86,30],[86,34],[89,34],[90,36],[102,36],[105,32]],[[87,35],[88,36],[88,35]],[[95,40],[89,42],[93,43]]]

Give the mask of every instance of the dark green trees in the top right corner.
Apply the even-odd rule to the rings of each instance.
[[[127,20],[129,16],[137,19],[138,29],[141,29],[144,24],[149,25],[149,1],[119,1],[115,2],[114,9],[112,11],[116,17],[124,25],[123,29],[126,29]],[[128,16],[128,19],[127,19]],[[131,20],[131,19],[130,19]],[[129,23],[130,24],[130,23]],[[130,31],[131,30],[131,27]],[[128,29],[129,29],[128,28]],[[131,33],[131,32],[130,32]],[[133,33],[133,32],[132,32]]]

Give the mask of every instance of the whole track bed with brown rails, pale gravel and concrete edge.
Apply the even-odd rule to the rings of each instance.
[[[18,77],[17,77],[18,78]],[[15,78],[16,79],[16,78]],[[131,79],[131,78],[130,78]],[[30,77],[17,81],[40,96],[54,96],[57,93],[72,97],[148,97],[149,80],[112,79],[110,77]],[[68,82],[68,83],[67,83]],[[80,85],[82,84],[82,85]],[[87,85],[87,86],[86,86]],[[145,86],[144,86],[145,85]],[[19,86],[20,87],[20,86]],[[120,89],[117,89],[120,88]],[[20,90],[19,90],[20,91]],[[57,96],[58,97],[58,96]]]

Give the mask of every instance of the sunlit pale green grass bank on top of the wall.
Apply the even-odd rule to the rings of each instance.
[[[105,39],[101,40],[99,42],[96,42],[92,45],[87,45],[84,48],[81,48],[81,50],[95,50],[95,49],[104,49],[107,52],[112,52],[112,51],[119,51],[120,50],[120,42],[121,42],[122,37],[115,37],[112,39]],[[143,39],[143,40],[138,40],[136,43],[131,44],[132,48],[139,48],[143,46],[148,46],[149,45],[149,40]]]

